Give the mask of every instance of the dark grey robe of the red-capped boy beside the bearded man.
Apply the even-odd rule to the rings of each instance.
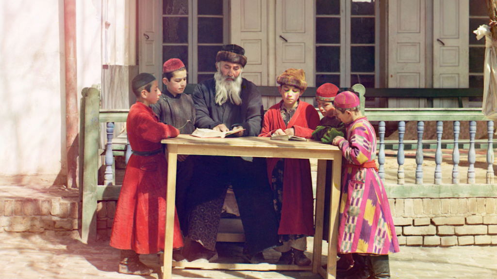
[[[150,105],[159,117],[159,121],[173,126],[179,134],[190,135],[195,130],[195,106],[192,98],[186,94],[177,94],[176,97],[164,90],[157,103]],[[185,203],[190,179],[195,167],[195,156],[188,156],[182,162],[176,163],[176,210],[182,231],[187,230]],[[165,170],[166,171],[166,170]]]

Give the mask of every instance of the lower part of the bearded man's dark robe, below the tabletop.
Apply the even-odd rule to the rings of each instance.
[[[278,219],[267,178],[266,158],[198,156],[187,208],[219,198],[233,186],[245,231],[248,252],[254,255],[279,243]]]

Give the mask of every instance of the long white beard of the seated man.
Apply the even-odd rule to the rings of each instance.
[[[242,91],[242,71],[235,80],[226,80],[227,76],[223,76],[221,70],[218,70],[214,74],[214,79],[216,80],[216,97],[214,100],[216,104],[222,106],[228,98],[232,104],[240,105],[242,103],[242,98],[240,98],[240,92]]]

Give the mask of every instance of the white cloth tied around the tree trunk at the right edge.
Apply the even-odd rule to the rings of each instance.
[[[477,40],[485,36],[482,113],[495,121],[497,120],[497,48],[488,25],[480,25],[473,33],[476,34]]]

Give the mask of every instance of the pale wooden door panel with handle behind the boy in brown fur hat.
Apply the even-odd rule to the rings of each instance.
[[[314,1],[276,1],[276,76],[303,69],[307,85],[315,86],[314,25]]]

